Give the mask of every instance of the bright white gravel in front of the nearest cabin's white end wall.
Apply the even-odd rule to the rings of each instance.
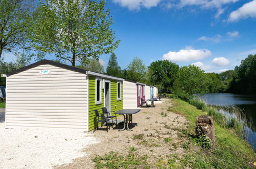
[[[1,114],[0,114],[1,117]],[[0,168],[52,168],[88,155],[90,133],[66,129],[5,129],[0,123]]]

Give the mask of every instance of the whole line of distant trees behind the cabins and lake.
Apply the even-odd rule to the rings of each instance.
[[[0,73],[28,65],[29,61],[21,59],[17,63],[7,63],[0,60]],[[160,92],[183,98],[195,93],[256,93],[256,55],[249,55],[234,70],[219,74],[205,73],[193,65],[179,67],[168,60],[157,60],[146,67],[139,57],[135,57],[122,70],[114,53],[110,56],[106,72],[99,60],[91,60],[88,65],[77,67],[154,85]],[[5,86],[5,79],[0,78],[0,86]]]

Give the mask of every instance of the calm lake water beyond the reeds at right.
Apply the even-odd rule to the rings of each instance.
[[[233,93],[208,93],[203,98],[207,104],[226,107],[235,105],[244,110],[247,119],[252,120],[252,126],[248,129],[248,142],[256,149],[256,95]]]

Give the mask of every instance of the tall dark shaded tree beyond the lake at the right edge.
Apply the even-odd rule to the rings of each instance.
[[[249,55],[235,67],[231,91],[235,93],[256,93],[256,54]]]

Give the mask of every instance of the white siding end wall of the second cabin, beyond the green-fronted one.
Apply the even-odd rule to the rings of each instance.
[[[124,109],[137,109],[137,86],[130,81],[123,82]]]

